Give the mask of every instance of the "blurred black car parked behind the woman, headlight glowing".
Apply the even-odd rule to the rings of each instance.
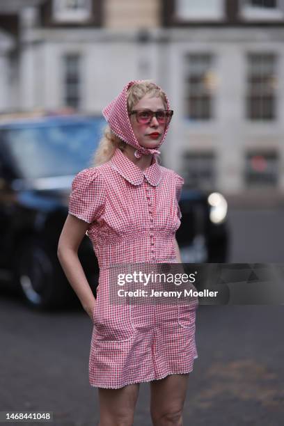
[[[39,308],[76,299],[57,258],[71,183],[102,135],[101,117],[0,117],[0,280],[15,285]],[[210,199],[211,197],[211,199]],[[183,191],[177,232],[183,262],[226,262],[226,200],[221,194]],[[99,269],[84,237],[78,251],[95,293]]]

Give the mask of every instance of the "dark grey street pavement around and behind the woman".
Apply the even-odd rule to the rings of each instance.
[[[229,221],[230,262],[283,262],[283,210],[235,210]],[[184,426],[283,425],[283,318],[283,306],[198,308]],[[92,324],[81,307],[40,313],[3,291],[0,324],[0,411],[52,411],[52,425],[97,425],[97,389],[88,384]],[[149,407],[144,383],[134,426],[152,425]]]

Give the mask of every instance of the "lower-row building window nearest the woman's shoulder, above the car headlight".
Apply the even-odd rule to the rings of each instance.
[[[184,152],[182,169],[187,189],[213,189],[216,182],[213,152]]]

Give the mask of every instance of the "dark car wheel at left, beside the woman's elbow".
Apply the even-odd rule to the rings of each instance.
[[[15,255],[15,279],[30,306],[62,306],[70,297],[70,288],[58,267],[56,255],[36,240],[22,243]]]

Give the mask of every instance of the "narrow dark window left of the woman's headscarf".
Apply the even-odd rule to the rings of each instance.
[[[64,56],[64,101],[78,109],[81,104],[81,58],[78,54]]]

